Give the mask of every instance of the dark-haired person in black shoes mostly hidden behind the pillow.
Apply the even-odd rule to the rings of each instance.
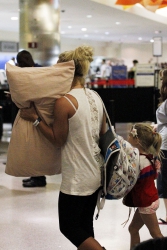
[[[20,51],[17,56],[17,66],[24,67],[40,67],[40,65],[35,64],[32,55],[27,50]],[[18,107],[13,103],[13,111],[12,111],[12,120],[14,119],[18,113]],[[45,176],[34,176],[27,179],[23,179],[23,187],[32,188],[32,187],[45,187],[46,186],[46,177]]]

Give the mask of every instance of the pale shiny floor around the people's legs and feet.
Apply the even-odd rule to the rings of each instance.
[[[116,124],[118,134],[126,137],[130,124]],[[57,201],[61,175],[47,176],[44,188],[23,188],[22,178],[5,174],[5,161],[11,125],[4,125],[0,143],[0,250],[74,250],[76,249],[60,232]],[[107,250],[128,250],[128,208],[121,200],[106,201],[98,220],[94,222],[96,239]],[[163,218],[164,206],[161,201],[157,211]],[[131,216],[132,218],[132,216]],[[160,225],[167,236],[167,226]],[[145,227],[141,240],[149,239]]]

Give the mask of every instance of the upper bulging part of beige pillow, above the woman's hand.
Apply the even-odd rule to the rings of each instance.
[[[74,62],[28,68],[7,63],[6,75],[13,102],[19,108],[29,107],[30,101],[55,100],[57,95],[67,93],[74,75]]]

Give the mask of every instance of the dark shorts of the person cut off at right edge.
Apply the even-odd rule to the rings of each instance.
[[[167,199],[167,150],[163,151],[161,173],[158,174],[157,178],[157,189],[159,198]]]

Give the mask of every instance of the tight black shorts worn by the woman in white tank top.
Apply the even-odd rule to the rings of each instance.
[[[87,238],[94,238],[93,216],[98,191],[88,196],[59,194],[60,231],[77,248]]]

